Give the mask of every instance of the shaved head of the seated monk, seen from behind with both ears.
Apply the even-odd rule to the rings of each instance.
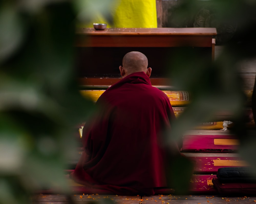
[[[148,72],[147,66],[148,66],[147,57],[141,52],[133,51],[133,52],[127,53],[123,57],[123,67],[120,66],[122,67],[122,69],[124,69],[125,75],[122,74],[121,70],[120,72],[123,77],[135,72],[145,72],[147,74]]]

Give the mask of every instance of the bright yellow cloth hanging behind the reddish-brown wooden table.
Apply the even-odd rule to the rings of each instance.
[[[107,28],[157,28],[155,0],[119,0],[113,7],[113,25],[95,13],[90,23],[78,27],[93,28],[93,23],[107,23]]]

